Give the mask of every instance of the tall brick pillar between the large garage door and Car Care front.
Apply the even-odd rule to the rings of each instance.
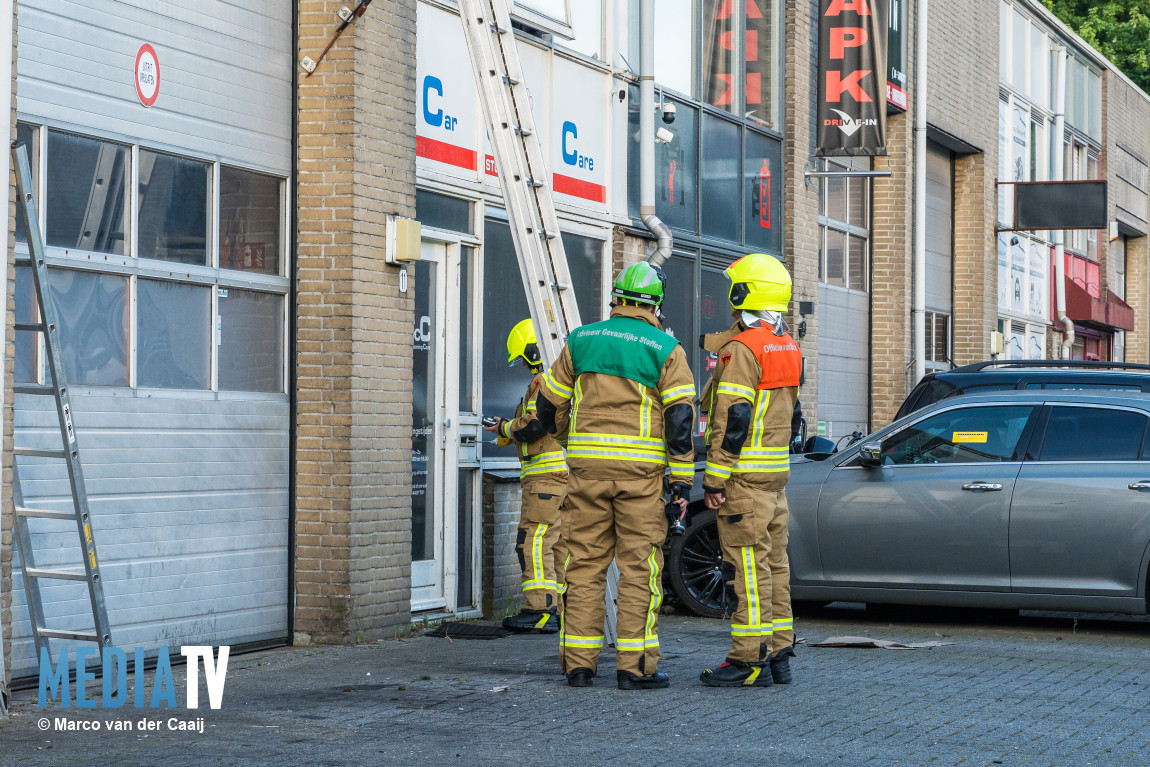
[[[300,55],[339,1],[302,0]],[[376,2],[299,89],[296,629],[382,636],[409,620],[411,313],[383,262],[414,215],[415,0]]]

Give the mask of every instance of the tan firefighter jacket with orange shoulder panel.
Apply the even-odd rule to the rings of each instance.
[[[727,480],[781,490],[790,475],[791,415],[798,398],[803,355],[790,333],[776,336],[764,322],[736,323],[708,337],[726,342],[704,397],[707,469],[703,486],[722,492]]]

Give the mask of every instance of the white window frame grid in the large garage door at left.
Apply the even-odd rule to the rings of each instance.
[[[17,122],[32,129],[33,146],[29,147],[30,155],[36,159],[34,177],[38,179],[36,189],[36,210],[41,239],[46,231],[47,220],[47,163],[48,146],[47,135],[49,131],[78,136],[80,138],[97,141],[118,144],[129,148],[128,170],[125,174],[126,185],[126,217],[128,232],[125,233],[125,254],[112,255],[94,251],[82,251],[72,247],[49,246],[45,244],[45,262],[52,269],[68,269],[74,271],[85,271],[105,274],[109,276],[125,277],[129,281],[129,327],[128,327],[128,389],[135,391],[159,392],[170,394],[172,392],[197,392],[202,394],[225,394],[228,397],[251,398],[251,397],[288,397],[291,385],[291,306],[293,300],[292,278],[292,248],[290,238],[290,222],[292,212],[290,209],[290,177],[281,176],[264,168],[250,168],[236,163],[221,162],[218,158],[197,155],[186,149],[170,146],[141,145],[138,140],[126,136],[110,135],[97,130],[77,130],[71,125],[56,124],[53,121],[29,115],[17,115]],[[175,261],[163,261],[158,259],[139,258],[139,153],[140,149],[177,156],[182,159],[202,162],[208,166],[207,184],[205,190],[208,200],[208,227],[207,227],[207,266],[179,263]],[[279,262],[278,274],[263,275],[259,273],[247,273],[233,269],[221,269],[220,262],[220,171],[227,166],[244,171],[256,172],[275,178],[278,182],[278,214],[277,224],[279,227],[279,239],[277,255]],[[17,255],[28,255],[28,243],[16,243]],[[137,382],[138,363],[138,281],[154,279],[159,282],[181,283],[210,290],[212,307],[209,315],[209,348],[210,370],[209,385],[206,389],[153,389],[140,388]],[[221,390],[218,382],[218,348],[220,348],[220,291],[230,289],[254,291],[260,293],[271,293],[281,296],[283,300],[282,327],[283,327],[283,366],[279,376],[278,391],[232,391]],[[47,371],[45,369],[44,339],[38,338],[34,350],[36,370],[32,383],[43,383]],[[87,386],[87,384],[78,384]],[[124,389],[124,386],[103,386],[91,384],[99,389]]]

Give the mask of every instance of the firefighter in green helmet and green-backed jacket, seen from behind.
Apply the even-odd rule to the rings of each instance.
[[[658,670],[664,474],[685,496],[695,474],[695,381],[664,332],[662,273],[649,263],[615,279],[611,317],[572,331],[544,375],[539,420],[567,445],[564,526],[570,562],[559,637],[567,683],[590,687],[603,647],[607,568],[619,566],[616,683],[665,688]],[[678,509],[683,509],[681,501]]]

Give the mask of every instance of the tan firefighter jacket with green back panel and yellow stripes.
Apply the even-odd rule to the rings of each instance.
[[[695,378],[653,314],[616,306],[572,332],[543,376],[538,414],[572,471],[604,480],[695,478]]]

